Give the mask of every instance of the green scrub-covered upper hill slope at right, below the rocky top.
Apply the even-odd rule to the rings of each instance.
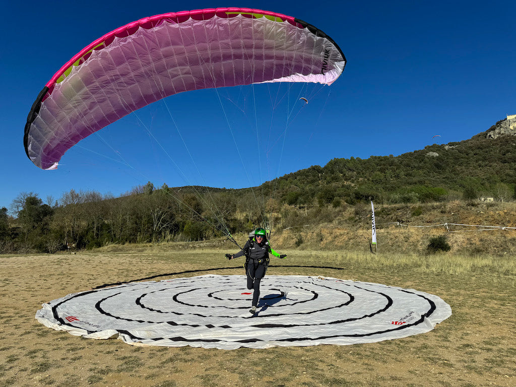
[[[281,198],[309,204],[314,198],[354,204],[372,198],[382,203],[513,198],[516,183],[516,118],[498,121],[469,140],[433,144],[399,156],[334,158],[279,179]],[[276,183],[276,182],[275,182]]]

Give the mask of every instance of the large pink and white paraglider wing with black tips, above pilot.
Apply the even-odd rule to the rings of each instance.
[[[331,84],[346,58],[314,26],[249,8],[166,13],[85,47],[45,85],[25,125],[27,156],[55,169],[78,141],[166,96],[265,82]]]

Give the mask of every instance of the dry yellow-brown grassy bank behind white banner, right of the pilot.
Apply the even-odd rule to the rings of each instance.
[[[345,206],[340,214],[334,213],[334,217],[329,216],[331,219],[325,222],[276,233],[275,246],[279,244],[281,248],[301,250],[370,251],[370,214],[370,205]],[[426,254],[431,238],[445,236],[451,254],[515,255],[516,230],[486,230],[486,227],[450,224],[516,227],[515,214],[514,202],[375,204],[378,251],[379,254],[391,255]],[[448,223],[447,227],[442,225],[444,223]]]

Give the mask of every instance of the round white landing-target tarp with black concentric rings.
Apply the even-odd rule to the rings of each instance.
[[[235,349],[374,343],[428,332],[451,315],[438,296],[328,277],[266,276],[254,316],[251,299],[245,276],[206,275],[70,294],[36,318],[133,345]]]

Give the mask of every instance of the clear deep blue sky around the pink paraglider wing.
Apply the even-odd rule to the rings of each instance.
[[[513,0],[9,3],[1,27],[0,207],[20,192],[36,192],[43,201],[70,189],[118,196],[148,181],[255,186],[335,157],[399,155],[468,139],[516,114]],[[146,16],[223,6],[275,11],[315,25],[346,55],[343,75],[330,87],[178,94],[83,140],[57,170],[40,170],[26,157],[30,106],[84,46]]]

